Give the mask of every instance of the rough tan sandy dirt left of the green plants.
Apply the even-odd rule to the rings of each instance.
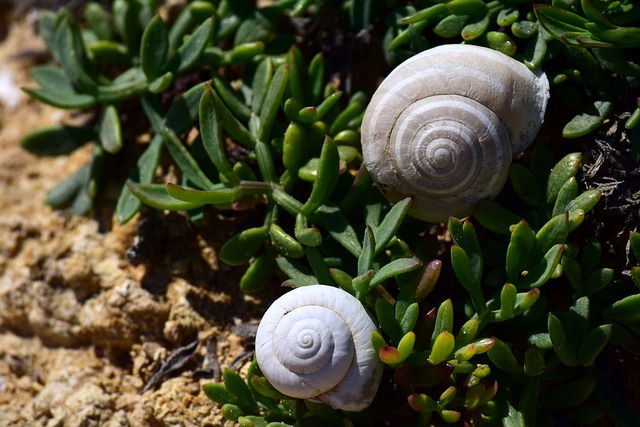
[[[145,211],[118,226],[112,201],[106,220],[44,204],[91,147],[56,158],[20,147],[77,119],[17,90],[46,56],[34,23],[13,20],[0,41],[0,426],[221,425],[202,385],[251,349],[243,326],[274,295],[239,293],[241,272],[218,263],[234,218],[198,228]]]

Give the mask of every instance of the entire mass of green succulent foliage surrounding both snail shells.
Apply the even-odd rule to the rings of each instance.
[[[235,230],[219,252],[223,262],[247,267],[243,291],[260,290],[274,275],[286,286],[335,285],[379,325],[372,346],[386,373],[371,408],[343,413],[289,398],[254,362],[247,382],[227,370],[223,384],[204,387],[226,419],[241,426],[547,425],[607,417],[639,424],[620,411],[620,391],[597,361],[611,346],[640,351],[640,233],[629,237],[628,279],[606,265],[603,243],[581,227],[602,196],[585,189],[582,154],[558,160],[538,144],[512,165],[510,199],[451,218],[450,244],[435,243],[431,231],[443,237],[443,229],[406,218],[410,199],[390,206],[362,167],[359,125],[368,95],[328,83],[325,56],[303,52],[289,28],[291,19],[327,14],[346,33],[382,28],[390,65],[442,38],[500,50],[548,74],[551,101],[577,109],[563,131],[576,137],[598,128],[614,100],[637,84],[637,65],[627,58],[640,44],[635,5],[192,1],[168,22],[157,7],[116,0],[107,11],[89,3],[80,24],[66,11],[42,15],[40,33],[55,65],[34,67],[39,87],[25,91],[95,115],[85,126],[58,125],[23,139],[41,156],[94,143],[89,164],[57,184],[47,202],[90,212],[105,162],[131,155],[129,141],[151,132],[134,153],[119,222],[143,203],[186,211],[194,222],[204,208],[253,211],[257,221]],[[150,129],[125,126],[135,111]],[[627,127],[639,118],[636,110]],[[166,172],[163,157],[177,168],[176,182],[156,181]]]

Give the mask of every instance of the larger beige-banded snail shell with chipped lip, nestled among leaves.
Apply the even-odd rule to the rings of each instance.
[[[362,123],[364,163],[392,202],[430,222],[465,216],[504,186],[513,157],[533,141],[549,82],[500,52],[443,45],[400,64]]]

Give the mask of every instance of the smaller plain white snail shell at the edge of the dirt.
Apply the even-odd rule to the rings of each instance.
[[[360,301],[332,286],[293,289],[265,312],[256,359],[276,390],[361,411],[373,400],[383,364],[371,344],[376,325]]]

